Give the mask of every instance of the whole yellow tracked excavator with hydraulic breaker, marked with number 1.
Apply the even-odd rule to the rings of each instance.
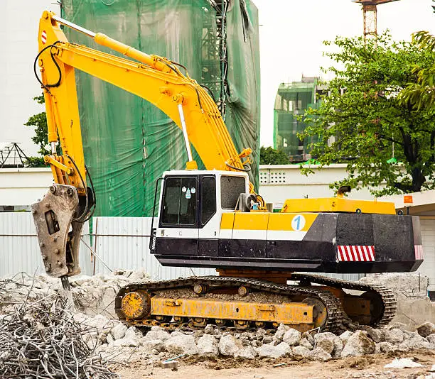
[[[60,25],[126,58],[69,43]],[[334,331],[355,324],[380,326],[394,317],[396,300],[387,288],[306,272],[417,270],[422,262],[417,217],[396,214],[392,203],[346,199],[348,188],[334,198],[289,199],[281,212],[268,212],[247,175],[251,150],[237,153],[218,106],[182,65],[49,11],[41,17],[38,45],[35,74],[43,88],[51,146],[45,163],[55,183],[32,212],[48,275],[68,287],[68,277],[80,273],[82,224],[96,206],[82,148],[77,69],[150,101],[181,128],[186,170],[163,172],[156,183],[158,216],[150,251],[162,265],[218,271],[122,287],[115,299],[119,319],[167,329],[216,324],[246,330],[283,323],[300,331]],[[190,143],[206,170],[198,170]]]

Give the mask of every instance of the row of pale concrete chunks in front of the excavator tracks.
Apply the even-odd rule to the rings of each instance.
[[[184,354],[203,358],[281,358],[300,361],[329,361],[333,358],[363,356],[372,353],[407,353],[417,349],[435,350],[435,325],[426,323],[417,331],[405,324],[392,324],[384,329],[301,333],[281,324],[276,331],[221,331],[208,325],[198,331],[166,331],[159,326],[141,331],[102,316],[76,314],[81,324],[96,326],[89,337],[102,358],[111,361],[148,361],[153,363]],[[427,334],[432,331],[431,334]],[[114,358],[114,357],[117,358]]]

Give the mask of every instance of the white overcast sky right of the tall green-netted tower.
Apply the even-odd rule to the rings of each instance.
[[[261,143],[273,145],[274,99],[281,82],[321,75],[327,66],[323,40],[363,34],[363,11],[351,0],[253,0],[259,10],[262,74]],[[395,40],[411,33],[435,33],[431,0],[399,0],[377,6],[377,29]]]

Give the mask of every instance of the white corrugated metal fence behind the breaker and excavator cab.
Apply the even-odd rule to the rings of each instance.
[[[149,253],[150,229],[151,217],[94,217],[92,234],[87,224],[83,228],[82,273],[92,275],[114,269],[144,268],[154,280],[215,275],[211,268],[163,267]],[[30,212],[0,213],[0,277],[21,271],[43,272],[33,217]],[[328,276],[358,280],[363,275]]]

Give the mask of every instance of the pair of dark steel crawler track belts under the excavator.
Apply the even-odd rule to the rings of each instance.
[[[308,274],[293,274],[291,280],[298,280],[302,283],[311,283],[318,285],[326,285],[329,287],[349,289],[349,290],[360,290],[360,291],[370,291],[378,294],[377,296],[382,298],[382,316],[373,320],[369,325],[372,327],[381,326],[388,324],[392,317],[394,317],[396,309],[396,301],[394,295],[390,290],[382,286],[364,285],[358,282],[350,282],[348,280],[337,280],[326,278],[321,275],[308,275]],[[193,285],[201,284],[208,285],[209,287],[240,287],[245,286],[249,291],[262,292],[269,294],[278,294],[285,297],[314,297],[320,300],[326,308],[327,319],[326,323],[322,326],[323,331],[343,331],[344,329],[353,329],[355,324],[347,317],[340,300],[333,295],[332,292],[324,290],[321,287],[313,285],[281,285],[274,282],[269,282],[266,280],[259,280],[253,278],[233,278],[233,277],[222,277],[222,276],[204,276],[204,277],[191,277],[191,278],[180,278],[177,280],[160,280],[155,282],[138,282],[131,283],[122,287],[117,293],[115,299],[115,312],[119,319],[124,320],[127,324],[135,326],[151,326],[160,325],[166,329],[174,329],[179,327],[181,329],[198,329],[191,323],[183,324],[170,324],[168,322],[160,322],[152,315],[149,319],[144,320],[126,320],[124,313],[122,312],[122,297],[128,292],[133,292],[137,290],[146,290],[151,294],[156,292],[162,292],[164,290],[182,290],[184,288],[191,289]],[[207,318],[206,315],[204,315]],[[255,321],[255,320],[252,320]],[[210,320],[213,324],[213,321]],[[230,328],[232,329],[232,328]]]

